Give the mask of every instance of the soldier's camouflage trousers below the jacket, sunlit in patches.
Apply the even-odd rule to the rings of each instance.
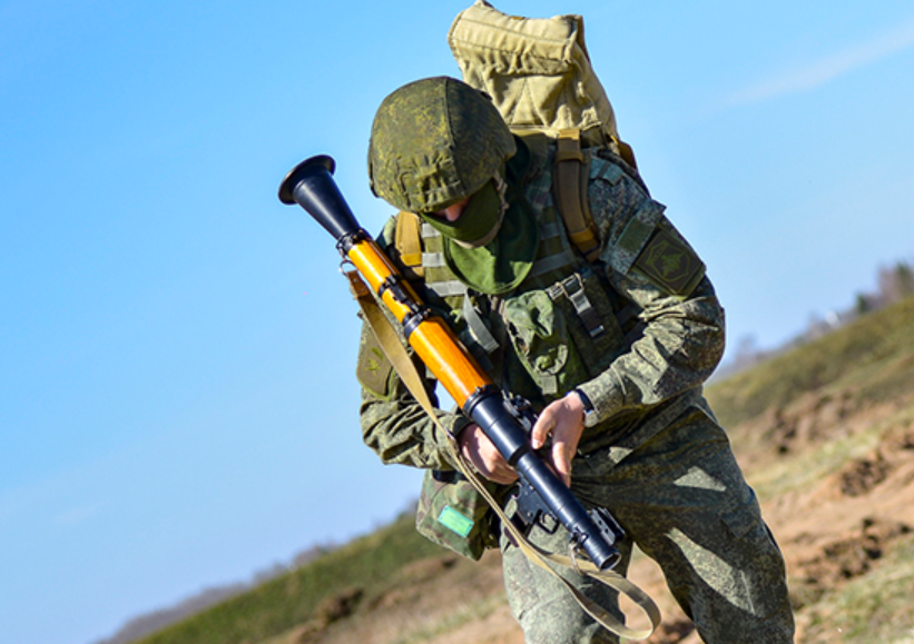
[[[725,432],[690,408],[669,427],[613,463],[603,450],[578,455],[572,491],[588,506],[610,509],[627,537],[662,568],[667,584],[707,644],[793,642],[784,561],[761,519]],[[530,541],[564,552],[563,528],[534,527]],[[511,611],[528,644],[615,643],[548,572],[502,537]],[[615,591],[562,568],[562,576],[618,615]]]

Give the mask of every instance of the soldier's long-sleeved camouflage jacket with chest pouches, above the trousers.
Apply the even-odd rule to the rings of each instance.
[[[704,264],[621,159],[605,150],[591,153],[588,196],[601,247],[600,260],[589,265],[573,250],[554,209],[552,150],[531,147],[527,152],[529,164],[519,179],[541,231],[541,257],[531,274],[501,298],[436,290],[449,281],[440,279],[442,273],[448,275],[444,267],[439,267],[439,278],[426,271],[425,283],[415,286],[494,382],[531,400],[534,409],[580,388],[594,412],[579,453],[605,449],[618,460],[689,406],[710,413],[701,385],[723,354],[724,311]],[[423,237],[432,234],[426,250],[434,242],[430,228],[423,228]],[[379,237],[382,247],[392,245],[393,231],[392,219]],[[431,264],[433,268],[440,262]],[[590,310],[578,306],[576,289]],[[495,339],[494,350],[480,347],[465,298]],[[528,305],[539,309],[524,328],[531,318]],[[597,339],[594,324],[602,331]],[[406,392],[367,327],[358,360],[364,442],[384,463],[451,469],[446,437]],[[429,375],[433,400],[434,386]],[[452,432],[470,423],[459,409],[441,410],[439,417]]]

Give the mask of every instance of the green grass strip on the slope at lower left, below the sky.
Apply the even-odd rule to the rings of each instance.
[[[354,586],[366,596],[405,564],[441,554],[415,532],[411,516],[333,551],[184,622],[149,635],[141,644],[254,644],[307,621],[325,597]]]

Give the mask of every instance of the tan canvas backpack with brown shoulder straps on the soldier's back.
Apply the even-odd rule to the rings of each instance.
[[[597,75],[580,16],[520,18],[485,0],[461,11],[448,43],[463,80],[488,95],[509,129],[521,137],[556,141],[552,192],[568,236],[596,261],[600,241],[588,208],[587,148],[607,148],[637,171]],[[413,214],[397,217],[394,248],[407,276],[422,277],[421,225]]]

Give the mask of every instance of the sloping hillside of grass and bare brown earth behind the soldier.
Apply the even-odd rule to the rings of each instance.
[[[797,642],[914,642],[914,298],[714,385],[787,559]],[[142,644],[520,644],[498,553],[436,548],[401,517]],[[696,643],[659,571],[651,642]]]

